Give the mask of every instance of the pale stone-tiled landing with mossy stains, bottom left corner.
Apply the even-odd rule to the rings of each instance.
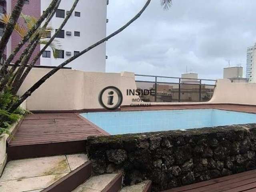
[[[30,158],[8,162],[1,192],[39,192],[88,161],[86,154]]]

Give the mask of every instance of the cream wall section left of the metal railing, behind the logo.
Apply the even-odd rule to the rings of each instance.
[[[33,68],[18,94],[23,94],[50,69]],[[130,105],[132,98],[126,89],[136,89],[134,73],[84,72],[59,70],[27,100],[28,110],[82,110],[102,108],[98,102],[100,91],[107,86],[116,86],[123,92],[123,105]]]

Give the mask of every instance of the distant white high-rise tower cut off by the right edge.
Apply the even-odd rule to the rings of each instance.
[[[247,48],[246,78],[248,82],[256,82],[256,44]]]

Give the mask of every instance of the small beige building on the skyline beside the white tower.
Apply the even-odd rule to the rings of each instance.
[[[230,79],[234,83],[246,83],[247,78],[243,78],[242,67],[226,67],[223,69],[223,78]]]

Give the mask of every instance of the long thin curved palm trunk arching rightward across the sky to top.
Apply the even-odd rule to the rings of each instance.
[[[142,10],[140,10],[140,12],[138,12],[138,14],[136,14],[136,16],[134,16],[124,26],[122,26],[121,28],[119,28],[118,30],[116,30],[115,32],[113,32],[112,34],[107,36],[106,38],[103,38],[102,40],[100,40],[100,41],[96,42],[95,44],[89,46],[88,48],[84,49],[82,52],[80,52],[76,56],[73,56],[73,57],[69,58],[68,60],[66,60],[65,62],[63,62],[59,66],[57,66],[56,68],[52,69],[50,72],[48,72],[42,78],[40,78],[40,80],[38,80],[29,90],[27,90],[19,98],[19,100],[15,104],[12,105],[9,112],[13,112],[16,108],[18,108],[18,106],[20,106],[20,104],[22,104],[22,102],[24,102],[24,100],[26,100],[26,98],[28,98],[36,89],[38,89],[48,78],[50,78],[53,74],[55,74],[58,70],[60,70],[60,68],[64,67],[65,65],[72,62],[73,60],[75,60],[76,58],[81,56],[82,54],[85,54],[86,52],[90,51],[91,49],[95,48],[96,46],[102,44],[103,42],[107,41],[108,39],[110,39],[110,38],[114,37],[115,35],[117,35],[118,33],[122,32],[125,28],[127,28],[130,24],[132,24],[132,22],[134,22],[135,20],[137,20],[141,16],[141,14],[146,10],[146,8],[150,4],[150,2],[151,2],[151,0],[147,0],[146,4],[142,8]]]

